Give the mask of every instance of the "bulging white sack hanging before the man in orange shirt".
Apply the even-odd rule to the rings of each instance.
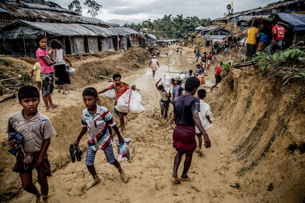
[[[147,111],[142,104],[141,95],[131,88],[117,100],[115,108],[123,113],[142,113]]]

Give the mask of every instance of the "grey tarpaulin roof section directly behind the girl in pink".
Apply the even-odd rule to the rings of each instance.
[[[48,34],[54,36],[98,36],[99,35],[79,24],[28,22],[21,20],[13,22],[12,24],[7,25],[2,29],[9,30],[12,28],[18,28],[20,27],[20,24],[23,25],[23,27],[31,27],[36,30],[43,30],[44,32],[47,32]],[[11,37],[5,37],[5,38],[11,38]]]

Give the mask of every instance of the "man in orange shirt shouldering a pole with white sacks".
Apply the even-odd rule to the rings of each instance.
[[[117,100],[119,99],[119,97],[121,97],[129,88],[132,88],[133,90],[135,90],[136,85],[130,84],[128,86],[128,85],[121,83],[121,75],[119,73],[114,74],[112,76],[112,78],[113,78],[114,82],[109,87],[106,87],[105,89],[102,89],[100,92],[97,92],[97,94],[101,94],[108,90],[113,89],[114,92],[116,92],[116,102],[114,103],[114,106],[116,106],[116,103],[117,103]],[[127,113],[117,111],[115,108],[114,108],[114,113],[120,117],[121,127],[124,126],[124,116],[126,116]]]

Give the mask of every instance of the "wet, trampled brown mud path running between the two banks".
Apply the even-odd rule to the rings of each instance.
[[[168,58],[164,56],[164,52],[165,50],[162,57],[157,58],[160,68],[156,71],[155,77],[152,77],[148,64],[129,77],[122,75],[122,81],[136,84],[141,89],[143,105],[148,110],[139,115],[126,116],[127,131],[124,131],[123,136],[132,139],[130,143],[132,160],[122,162],[121,166],[130,176],[129,182],[125,184],[116,168],[106,162],[103,151],[98,151],[95,167],[101,182],[90,190],[85,189],[85,184],[92,180],[92,176],[85,166],[85,155],[82,155],[81,162],[69,161],[66,166],[54,171],[48,178],[49,202],[242,202],[242,191],[230,187],[230,184],[238,182],[238,176],[235,174],[237,163],[228,165],[227,161],[234,146],[228,144],[227,129],[222,127],[222,121],[218,117],[213,119],[214,126],[207,129],[212,143],[211,148],[204,149],[203,156],[198,156],[197,153],[193,155],[189,169],[189,177],[192,181],[181,184],[173,184],[170,181],[176,154],[172,146],[174,125],[169,124],[173,106],[170,105],[168,119],[164,120],[160,113],[160,95],[155,87],[160,77],[164,74],[168,75]],[[171,52],[170,48],[169,52]],[[181,57],[176,53],[174,55],[169,53],[169,67],[171,72],[188,72],[190,69],[195,71],[193,49],[185,47],[184,56]],[[203,87],[211,87],[214,84],[214,71],[214,66],[211,66],[206,72],[208,77]],[[171,73],[171,76],[173,75],[175,74]],[[93,87],[100,90],[107,84],[108,82],[105,81]],[[80,91],[83,89],[81,88]],[[68,146],[78,135],[75,132],[81,130],[80,113],[85,106],[81,102],[79,91],[70,92],[70,102],[67,101],[67,97],[57,96],[56,93],[54,95],[54,100],[65,107],[59,108],[55,125],[65,123],[65,125],[72,125],[76,130],[71,131],[71,134],[63,135],[64,138],[53,137],[51,145],[56,139],[65,139],[68,143],[62,142],[61,146],[57,146],[58,151],[51,150],[49,154],[56,153],[59,157],[62,155],[64,159],[67,159]],[[101,104],[112,111],[114,101],[105,98],[104,95],[101,95],[101,100]],[[17,105],[15,103],[11,106],[18,109]],[[78,106],[69,112],[75,116],[70,121],[66,121],[65,116],[59,119],[59,115],[68,113],[65,111],[69,111],[70,106]],[[75,109],[79,112],[75,112]],[[211,111],[216,113],[213,109]],[[114,119],[119,123],[116,115]],[[2,120],[5,122],[6,118]],[[57,129],[59,128],[57,126]],[[57,132],[60,134],[59,130]],[[82,138],[80,146],[83,151],[86,150],[86,135]],[[116,156],[117,148],[116,146],[113,148]],[[51,164],[54,160],[50,159]],[[182,173],[183,161],[184,158],[180,164],[178,176]],[[36,171],[33,173],[36,174]],[[39,188],[37,181],[35,185]],[[11,202],[30,202],[31,198],[31,194],[19,189],[18,196],[12,198]]]

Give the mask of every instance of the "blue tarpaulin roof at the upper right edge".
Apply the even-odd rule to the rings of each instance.
[[[277,16],[287,22],[291,27],[292,31],[304,31],[305,30],[305,15],[304,14],[288,14],[288,13],[277,13]]]

